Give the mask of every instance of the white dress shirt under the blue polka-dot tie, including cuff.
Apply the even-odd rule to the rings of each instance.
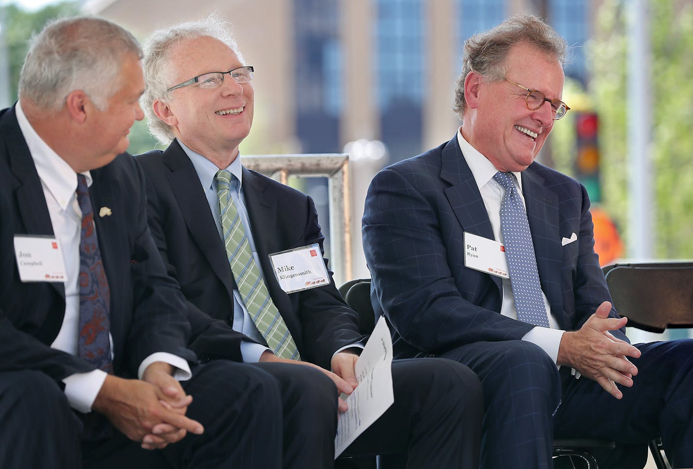
[[[495,241],[502,243],[503,235],[500,230],[500,203],[502,201],[503,194],[505,194],[505,189],[503,189],[501,185],[493,179],[493,176],[498,172],[498,169],[495,169],[493,164],[486,157],[484,157],[484,155],[479,153],[473,146],[471,146],[471,144],[469,144],[469,142],[464,139],[462,136],[461,126],[457,131],[457,142],[459,142],[459,148],[462,149],[464,160],[466,160],[469,169],[472,171],[474,180],[479,187],[479,191],[484,201],[484,206],[486,207],[486,213],[489,214],[491,228],[493,228],[493,237],[495,237]],[[524,204],[525,196],[523,195],[522,191],[521,173],[514,174],[518,181],[518,194],[520,194],[520,198]],[[509,318],[517,319],[518,314],[515,309],[515,298],[513,297],[510,280],[506,278],[502,279],[502,286],[503,301],[500,314],[503,316],[508,316]],[[555,363],[559,355],[561,337],[565,331],[559,329],[558,322],[551,313],[549,301],[547,300],[543,291],[541,292],[541,296],[544,300],[544,307],[546,309],[546,314],[549,318],[549,324],[551,327],[535,326],[534,329],[527,332],[522,339],[523,341],[536,343],[536,345],[541,347]]]

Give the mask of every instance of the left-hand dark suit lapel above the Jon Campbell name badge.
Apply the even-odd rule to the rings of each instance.
[[[8,148],[10,171],[19,184],[15,194],[19,217],[24,224],[26,235],[55,236],[51,215],[46,205],[41,179],[36,171],[34,160],[21,133],[15,114],[15,108],[8,110],[2,118],[1,133],[7,135],[5,142]],[[49,282],[62,298],[65,297],[64,285],[60,282]]]

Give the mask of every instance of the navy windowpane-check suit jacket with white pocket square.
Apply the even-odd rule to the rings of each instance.
[[[577,330],[611,301],[594,252],[587,192],[536,162],[522,180],[541,288],[559,326]],[[500,278],[464,266],[465,231],[494,239],[456,135],[371,182],[363,245],[374,309],[394,326],[395,357],[522,339],[534,327],[499,314]],[[561,246],[572,233],[577,241]],[[615,310],[611,315],[617,317]],[[625,340],[624,331],[615,335]]]

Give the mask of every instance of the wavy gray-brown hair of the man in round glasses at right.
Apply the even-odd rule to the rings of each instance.
[[[568,44],[554,28],[533,15],[517,15],[491,28],[477,33],[464,42],[462,73],[455,81],[455,105],[453,110],[464,116],[467,102],[464,99],[464,80],[475,71],[490,81],[505,77],[508,53],[515,44],[525,43],[543,51],[549,60],[565,64]]]

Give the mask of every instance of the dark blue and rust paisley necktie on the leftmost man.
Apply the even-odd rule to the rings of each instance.
[[[90,364],[113,373],[111,341],[109,338],[109,307],[111,294],[103,269],[98,239],[94,230],[94,210],[91,209],[87,178],[77,175],[77,201],[82,210],[80,238],[80,321],[77,354]]]

